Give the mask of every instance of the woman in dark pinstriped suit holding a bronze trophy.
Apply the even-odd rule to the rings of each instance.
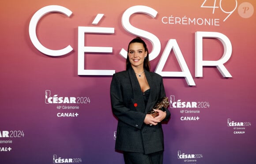
[[[162,77],[150,72],[147,45],[140,37],[129,43],[126,71],[113,75],[110,96],[118,118],[115,149],[123,151],[125,164],[162,164],[161,121],[167,121],[170,112],[156,110],[155,118],[147,114],[166,94]]]

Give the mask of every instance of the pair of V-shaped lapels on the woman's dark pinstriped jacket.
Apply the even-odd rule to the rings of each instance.
[[[150,76],[150,73],[146,70],[144,70],[144,71],[145,71],[145,75],[146,75],[146,78],[147,78],[147,82],[148,82],[148,84],[151,88],[150,96],[149,96],[149,99],[148,99],[148,102],[147,102],[147,107],[145,107],[144,99],[143,99],[143,93],[140,89],[139,81],[136,78],[135,72],[132,69],[132,67],[129,68],[128,73],[129,73],[129,77],[130,77],[130,80],[131,80],[132,91],[133,91],[132,102],[134,104],[136,103],[138,105],[136,107],[137,111],[147,113],[151,108],[152,96],[155,95],[155,89],[154,89],[154,84],[153,84],[152,78]]]

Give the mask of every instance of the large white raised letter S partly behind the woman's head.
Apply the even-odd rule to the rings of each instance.
[[[144,30],[140,30],[130,24],[129,18],[134,13],[143,13],[143,14],[150,15],[152,18],[155,18],[158,12],[155,11],[153,8],[147,7],[147,6],[132,6],[128,8],[126,11],[124,11],[124,14],[122,16],[122,21],[121,21],[122,26],[124,27],[124,30],[126,30],[128,33],[143,37],[152,43],[153,48],[150,53],[149,60],[154,60],[160,53],[161,43],[154,34],[151,34]],[[120,55],[126,58],[127,51],[125,51],[124,48],[122,48],[120,51]]]

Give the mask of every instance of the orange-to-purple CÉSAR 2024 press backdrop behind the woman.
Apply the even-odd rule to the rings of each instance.
[[[0,163],[124,164],[109,86],[125,69],[128,42],[140,36],[171,103],[164,164],[254,164],[255,7],[2,0]]]

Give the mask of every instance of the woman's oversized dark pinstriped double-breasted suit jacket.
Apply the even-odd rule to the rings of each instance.
[[[144,71],[151,88],[147,106],[132,67],[113,75],[110,97],[113,114],[118,118],[117,150],[148,154],[164,149],[162,124],[149,126],[144,123],[147,112],[159,98],[166,96],[162,76]],[[165,120],[169,117],[170,112],[166,109]]]

